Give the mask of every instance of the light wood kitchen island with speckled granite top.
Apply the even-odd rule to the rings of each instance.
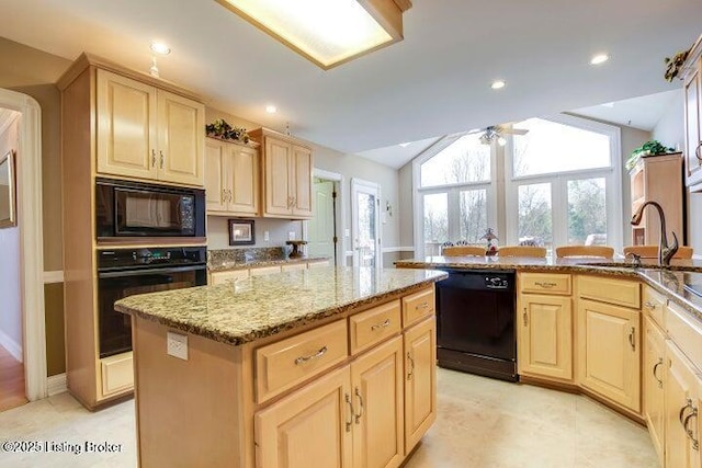
[[[140,466],[398,466],[435,418],[443,277],[318,267],[117,301]]]

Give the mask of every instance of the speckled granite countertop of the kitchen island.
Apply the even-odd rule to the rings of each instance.
[[[309,260],[309,259],[307,259]],[[446,274],[332,266],[129,296],[115,310],[233,345],[429,286]]]

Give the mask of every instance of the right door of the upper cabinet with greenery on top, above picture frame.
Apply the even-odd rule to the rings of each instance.
[[[259,153],[253,148],[230,147],[231,199],[229,210],[236,214],[257,215],[259,212]]]

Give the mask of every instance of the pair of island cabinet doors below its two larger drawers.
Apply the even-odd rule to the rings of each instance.
[[[261,467],[397,467],[404,453],[403,339],[256,415]]]

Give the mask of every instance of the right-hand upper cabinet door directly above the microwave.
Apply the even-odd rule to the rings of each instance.
[[[205,106],[158,91],[159,180],[204,185]]]

